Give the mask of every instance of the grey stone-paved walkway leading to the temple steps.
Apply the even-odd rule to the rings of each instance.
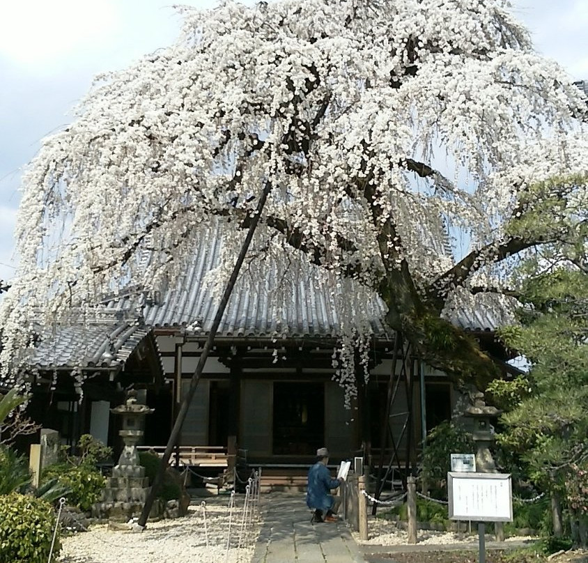
[[[342,520],[311,524],[304,493],[262,495],[262,512],[252,563],[364,563]]]

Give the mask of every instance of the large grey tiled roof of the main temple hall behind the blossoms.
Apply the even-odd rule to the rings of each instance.
[[[144,307],[147,325],[155,328],[182,327],[188,334],[208,334],[217,304],[212,299],[204,276],[219,265],[222,236],[216,226],[206,238],[207,242],[194,249],[193,259],[180,276],[175,288],[157,295]],[[235,286],[229,304],[219,325],[219,337],[336,337],[339,334],[339,318],[330,287],[319,275],[318,268],[306,268],[297,280],[284,279],[291,284],[291,300],[281,306],[272,304],[261,288],[241,283]],[[352,292],[353,293],[353,292]],[[353,295],[349,295],[353,299]],[[109,307],[121,309],[128,304],[111,302]],[[371,331],[376,337],[389,338],[390,330],[383,320],[387,307],[376,293],[371,299]],[[512,322],[511,304],[497,295],[480,294],[469,302],[447,310],[444,316],[465,330],[495,330]],[[194,328],[194,325],[196,327]]]

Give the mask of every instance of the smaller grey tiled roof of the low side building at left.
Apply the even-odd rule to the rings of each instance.
[[[107,313],[85,323],[60,323],[38,330],[29,360],[38,369],[118,369],[150,333],[150,327]]]

